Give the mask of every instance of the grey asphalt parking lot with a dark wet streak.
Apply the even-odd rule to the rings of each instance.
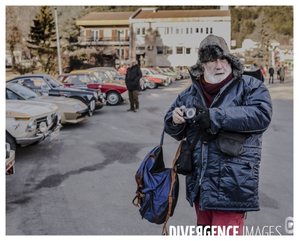
[[[293,77],[287,74],[285,84],[275,81],[265,81],[274,113],[263,135],[261,211],[248,213],[245,225],[254,233],[257,226],[281,226],[277,230],[286,235],[285,219],[294,217]],[[105,106],[87,121],[65,124],[51,142],[18,148],[16,173],[6,176],[6,235],[160,235],[162,225],[142,221],[132,205],[135,174],[159,143],[168,108],[190,84],[185,79],[148,89],[140,93],[139,113],[127,112],[129,102]],[[165,134],[166,167],[178,144]],[[196,226],[184,181],[179,175],[179,199],[167,227]]]

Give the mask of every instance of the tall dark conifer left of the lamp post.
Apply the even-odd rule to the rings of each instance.
[[[49,6],[41,6],[30,27],[28,48],[34,50],[41,70],[45,74],[53,72],[57,63],[55,22]]]

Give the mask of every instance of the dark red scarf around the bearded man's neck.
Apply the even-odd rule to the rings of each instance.
[[[207,108],[210,108],[214,99],[211,95],[216,95],[220,92],[220,89],[227,84],[233,78],[233,72],[230,73],[223,81],[217,84],[211,84],[204,80],[203,75],[200,76],[199,84],[204,94],[204,100],[207,105]]]

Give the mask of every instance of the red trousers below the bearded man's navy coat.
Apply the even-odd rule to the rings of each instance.
[[[200,211],[198,209],[198,201],[194,201],[195,211],[197,215],[197,225],[208,225],[208,226],[220,226],[223,232],[223,226],[225,227],[225,235],[233,235],[233,228],[229,229],[227,234],[228,226],[238,226],[236,231],[238,234],[243,235],[243,227],[245,217],[242,213],[229,212],[229,211],[218,211],[218,210],[205,210]],[[242,218],[243,217],[243,218]],[[214,229],[215,235],[218,235],[218,227]],[[212,231],[211,231],[212,232]],[[212,235],[212,234],[210,234]]]

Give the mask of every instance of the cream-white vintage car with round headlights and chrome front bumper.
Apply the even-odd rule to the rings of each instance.
[[[42,141],[49,136],[52,140],[59,135],[62,125],[56,105],[37,101],[5,101],[5,141],[12,150],[17,145],[26,146]]]

